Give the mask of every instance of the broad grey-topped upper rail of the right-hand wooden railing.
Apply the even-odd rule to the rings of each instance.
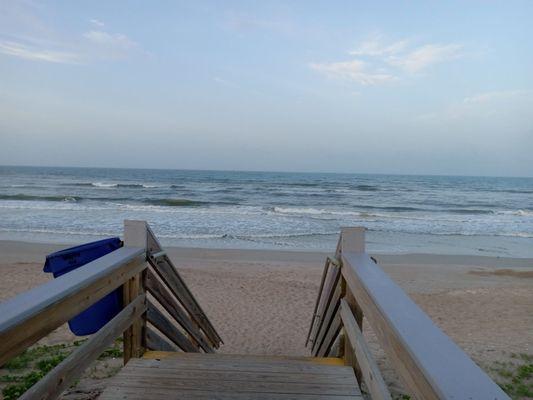
[[[342,252],[342,274],[396,372],[417,399],[509,399],[368,254]]]

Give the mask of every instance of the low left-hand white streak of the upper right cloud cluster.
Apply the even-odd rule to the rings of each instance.
[[[395,77],[388,73],[369,71],[368,65],[359,60],[332,63],[311,63],[310,67],[328,77],[353,81],[361,85],[376,85],[395,80]]]

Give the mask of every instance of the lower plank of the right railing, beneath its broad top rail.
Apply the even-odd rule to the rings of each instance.
[[[372,400],[391,400],[391,395],[387,385],[383,381],[381,372],[370,353],[363,333],[352,313],[351,307],[345,299],[341,300],[341,319],[344,324],[346,335],[355,352],[355,358],[361,368],[363,379],[366,383]]]

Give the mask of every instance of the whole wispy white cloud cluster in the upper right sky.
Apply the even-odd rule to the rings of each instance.
[[[429,43],[414,45],[411,40],[387,42],[381,36],[363,41],[348,51],[353,58],[345,61],[310,63],[309,66],[328,77],[377,85],[400,80],[432,65],[463,56],[461,44]]]

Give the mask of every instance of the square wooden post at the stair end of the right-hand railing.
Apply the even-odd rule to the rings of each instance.
[[[356,227],[356,228],[342,228],[341,229],[341,238],[340,238],[340,246],[337,248],[338,254],[336,254],[337,259],[341,263],[342,268],[342,252],[360,252],[364,253],[365,251],[365,228],[362,227]],[[342,295],[341,298],[344,298],[348,305],[350,306],[350,309],[352,310],[352,313],[355,317],[355,320],[357,322],[357,325],[359,325],[359,329],[361,329],[361,332],[363,332],[363,310],[357,304],[357,300],[355,298],[355,294],[351,292],[348,285],[346,284],[346,280],[344,279],[344,276],[341,276],[341,290]],[[342,344],[343,346],[340,346],[340,352],[339,357],[344,358],[344,363],[346,365],[351,365],[355,372],[355,377],[357,378],[357,382],[359,383],[359,386],[361,386],[362,382],[362,371],[361,367],[359,366],[359,363],[357,361],[357,358],[355,357],[355,352],[350,344],[350,341],[348,340],[348,337],[346,335],[345,329],[343,327],[342,333]]]

